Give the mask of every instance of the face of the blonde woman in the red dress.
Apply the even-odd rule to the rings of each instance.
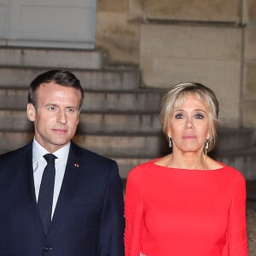
[[[203,152],[206,139],[210,137],[209,111],[204,102],[195,95],[185,97],[173,109],[169,120],[168,136],[172,137],[172,149],[182,153]]]

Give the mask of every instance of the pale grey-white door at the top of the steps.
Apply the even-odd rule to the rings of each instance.
[[[93,49],[96,0],[0,0],[0,45]]]

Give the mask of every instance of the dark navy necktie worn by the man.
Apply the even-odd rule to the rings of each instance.
[[[51,222],[52,201],[55,187],[55,158],[54,154],[44,154],[47,166],[44,168],[38,195],[38,209],[45,235],[47,234]]]

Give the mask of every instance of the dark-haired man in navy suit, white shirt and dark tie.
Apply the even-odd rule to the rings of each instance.
[[[71,141],[83,98],[73,73],[32,81],[34,139],[0,156],[0,256],[124,255],[118,166]]]

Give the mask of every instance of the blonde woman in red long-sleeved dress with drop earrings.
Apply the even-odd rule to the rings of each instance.
[[[244,177],[207,155],[216,143],[215,94],[177,84],[160,116],[172,153],[129,173],[125,256],[247,256]]]

